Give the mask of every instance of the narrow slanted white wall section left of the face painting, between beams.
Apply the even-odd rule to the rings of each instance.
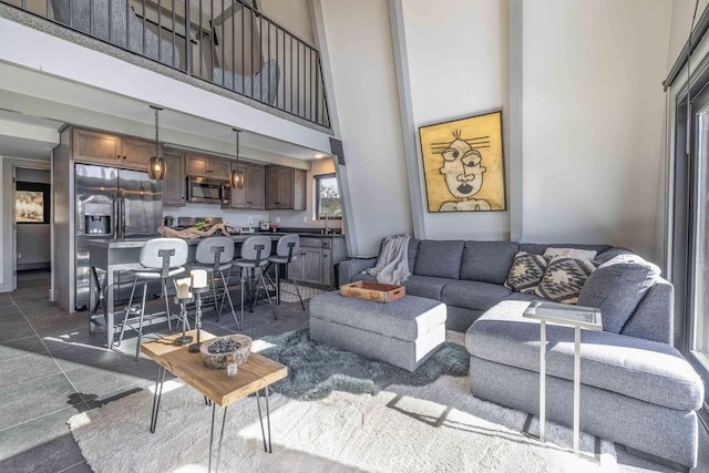
[[[436,7],[438,8],[438,7]],[[360,254],[411,232],[387,2],[323,1],[325,34]]]

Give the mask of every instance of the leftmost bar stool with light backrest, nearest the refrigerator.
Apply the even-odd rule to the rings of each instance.
[[[187,244],[184,239],[179,238],[153,238],[147,240],[141,248],[141,253],[137,257],[140,267],[131,269],[130,271],[135,276],[133,280],[133,289],[131,290],[131,298],[129,305],[125,306],[125,318],[121,325],[121,335],[119,337],[119,346],[123,340],[123,333],[125,328],[129,327],[132,330],[136,330],[133,326],[138,322],[137,328],[137,346],[135,347],[135,360],[141,353],[141,339],[143,338],[143,319],[145,317],[145,296],[147,295],[147,282],[151,280],[160,279],[162,285],[162,296],[165,299],[165,316],[167,318],[167,326],[169,330],[173,329],[169,312],[169,301],[167,300],[167,279],[173,280],[175,285],[175,276],[185,271],[183,265],[187,263]],[[135,287],[138,280],[143,281],[143,302],[140,307],[133,307],[133,296],[135,295]],[[154,316],[162,315],[163,312],[148,313],[148,319]],[[179,317],[176,316],[179,320]]]

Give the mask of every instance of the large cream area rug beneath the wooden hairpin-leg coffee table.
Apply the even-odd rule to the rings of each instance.
[[[271,391],[271,454],[264,452],[256,399],[229,407],[219,470],[616,471],[613,443],[584,434],[585,454],[576,456],[569,429],[547,424],[548,442],[542,444],[525,433],[537,429],[527,414],[474,399],[456,368],[460,353],[450,345],[421,367],[432,363],[425,374],[407,377],[357,356],[349,358],[354,367],[338,372],[352,353],[339,356],[339,368],[326,369],[338,364],[314,357],[336,349],[309,341],[307,331],[256,340],[255,350],[289,360],[291,373],[300,374]],[[169,381],[151,434],[152,401],[145,390],[71,418],[72,434],[95,472],[206,471],[210,408],[192,388]]]

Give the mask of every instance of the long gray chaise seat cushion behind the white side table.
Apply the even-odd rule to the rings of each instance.
[[[474,357],[540,371],[540,322],[522,316],[528,302],[504,301],[465,333]],[[605,331],[582,330],[580,382],[671,409],[697,410],[703,384],[674,347]],[[574,329],[546,326],[548,376],[574,379]],[[583,401],[582,401],[583,403]],[[583,404],[582,404],[583,405]]]

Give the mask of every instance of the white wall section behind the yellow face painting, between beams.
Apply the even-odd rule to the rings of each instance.
[[[417,128],[503,109],[506,120],[507,1],[402,2]],[[504,146],[503,146],[504,148]],[[417,133],[424,234],[433,239],[506,239],[508,212],[429,213]],[[442,161],[442,160],[441,160]],[[484,156],[483,156],[484,163]],[[508,207],[507,207],[508,208]]]

